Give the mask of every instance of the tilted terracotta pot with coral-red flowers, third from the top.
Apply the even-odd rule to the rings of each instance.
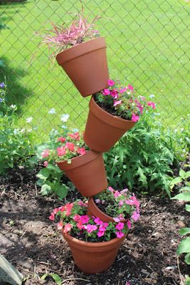
[[[57,162],[57,165],[85,197],[94,196],[107,188],[105,165],[100,152],[89,150],[85,155],[72,158],[70,164],[65,160]]]

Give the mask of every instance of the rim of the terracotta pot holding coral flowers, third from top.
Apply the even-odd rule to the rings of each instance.
[[[85,165],[97,158],[97,156],[102,155],[101,152],[95,152],[95,150],[88,150],[85,155],[78,155],[77,157],[71,158],[71,163],[69,164],[67,160],[56,162],[58,166],[64,167],[64,170],[72,170],[81,165]]]

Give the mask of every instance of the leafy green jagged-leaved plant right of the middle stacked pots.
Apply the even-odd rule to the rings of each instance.
[[[144,114],[110,152],[105,153],[107,177],[112,187],[126,186],[140,191],[167,192],[171,166],[184,154],[176,149],[174,134],[158,123],[157,114]]]

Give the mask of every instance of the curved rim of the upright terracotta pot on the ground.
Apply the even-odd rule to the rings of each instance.
[[[65,232],[63,232],[63,229],[62,229],[62,234],[63,234],[63,237],[65,237],[66,239],[69,239],[71,242],[74,242],[75,244],[80,245],[81,247],[83,246],[83,247],[93,247],[93,248],[110,247],[110,245],[124,240],[125,237],[127,236],[127,234],[125,234],[124,237],[121,237],[121,238],[115,237],[115,239],[110,239],[107,242],[85,242],[85,241],[81,241],[80,239],[76,239],[75,237],[71,237],[70,234],[65,234]]]

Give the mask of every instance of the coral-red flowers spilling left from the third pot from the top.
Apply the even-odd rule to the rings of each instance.
[[[60,162],[68,160],[70,163],[71,158],[78,155],[85,155],[88,147],[85,146],[80,133],[68,133],[65,137],[56,138],[56,142],[53,144],[53,149],[47,148],[41,152],[41,157],[44,162],[44,166],[48,166],[48,162]]]

